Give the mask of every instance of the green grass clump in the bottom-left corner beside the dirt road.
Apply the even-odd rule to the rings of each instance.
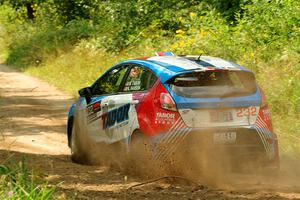
[[[0,165],[1,199],[53,199],[55,188],[40,182],[41,178],[28,169],[24,160],[14,165]]]

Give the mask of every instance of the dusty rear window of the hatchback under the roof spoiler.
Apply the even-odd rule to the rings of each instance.
[[[168,82],[184,97],[235,97],[256,92],[254,74],[245,71],[213,70],[180,74]]]

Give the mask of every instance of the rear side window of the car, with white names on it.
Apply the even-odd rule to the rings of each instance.
[[[123,92],[145,91],[152,87],[157,77],[150,70],[138,65],[130,68]]]

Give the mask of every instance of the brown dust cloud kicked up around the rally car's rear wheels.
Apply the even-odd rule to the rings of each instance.
[[[149,144],[140,142],[126,152],[121,143],[87,142],[88,162],[106,165],[125,175],[153,179],[180,176],[201,185],[236,191],[300,192],[300,159],[281,156],[280,170],[264,168],[259,159],[234,157],[230,149],[214,150],[209,142],[186,139],[171,156],[155,160]],[[148,145],[148,146],[147,146]]]

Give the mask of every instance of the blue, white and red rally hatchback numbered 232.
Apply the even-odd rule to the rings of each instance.
[[[279,166],[265,95],[254,73],[238,64],[157,53],[116,64],[79,95],[67,122],[75,161],[87,157],[90,142],[128,149],[138,135],[155,160],[168,159],[184,143],[197,151],[205,141],[211,149],[226,146],[236,157]]]

